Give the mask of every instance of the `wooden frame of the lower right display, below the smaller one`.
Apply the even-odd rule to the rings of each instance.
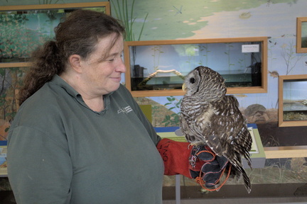
[[[307,74],[279,76],[279,127],[292,127],[292,126],[306,126],[307,125],[307,120],[284,120],[284,82],[287,80],[293,81],[297,79],[298,80],[305,79],[307,81]],[[307,90],[307,86],[306,86],[306,90]],[[307,108],[307,105],[305,106]],[[297,111],[297,110],[293,110],[293,111]]]

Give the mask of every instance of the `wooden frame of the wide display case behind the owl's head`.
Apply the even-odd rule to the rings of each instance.
[[[125,83],[134,97],[146,96],[182,96],[182,90],[149,90],[149,91],[131,91],[131,67],[130,67],[130,47],[142,45],[181,45],[181,44],[205,44],[205,43],[228,43],[228,42],[261,42],[262,44],[262,85],[248,87],[227,88],[227,94],[256,94],[266,93],[267,91],[267,38],[216,38],[200,40],[149,40],[149,41],[127,41],[124,43],[124,63],[126,64]]]

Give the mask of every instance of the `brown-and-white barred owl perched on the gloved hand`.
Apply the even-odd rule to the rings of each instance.
[[[252,168],[249,150],[252,136],[239,111],[235,96],[225,95],[225,79],[208,67],[196,67],[185,77],[185,96],[181,102],[181,131],[191,145],[208,145],[217,156],[232,164],[231,176],[244,179],[251,191],[242,157]]]

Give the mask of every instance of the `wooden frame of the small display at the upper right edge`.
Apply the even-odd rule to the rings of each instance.
[[[302,29],[302,24],[305,28],[307,27],[307,17],[296,18],[296,52],[307,53],[307,29]],[[302,40],[302,31],[305,32],[305,40]],[[302,42],[305,42],[304,45]]]

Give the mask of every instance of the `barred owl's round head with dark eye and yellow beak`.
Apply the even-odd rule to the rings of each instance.
[[[219,73],[199,66],[185,77],[185,91],[185,96],[217,101],[225,96],[227,89],[225,79]]]

